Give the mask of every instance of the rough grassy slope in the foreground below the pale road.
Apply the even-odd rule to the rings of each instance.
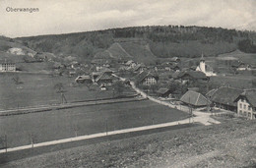
[[[255,121],[223,123],[75,147],[3,167],[255,167]]]

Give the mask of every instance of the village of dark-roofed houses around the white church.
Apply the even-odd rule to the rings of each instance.
[[[19,52],[22,51],[16,49],[15,54],[17,52],[19,55]],[[235,54],[235,52],[239,51],[233,53]],[[209,61],[211,58],[204,57],[202,53],[199,60],[189,60],[189,64],[187,64],[187,60],[183,62],[180,58],[173,57],[161,61],[161,63],[157,62],[157,64],[146,66],[144,63],[129,60],[129,58],[100,58],[98,55],[100,53],[96,54],[91,64],[81,64],[72,56],[58,62],[54,58],[42,57],[37,53],[31,57],[30,63],[51,63],[52,72],[49,73],[49,76],[72,78],[74,82],[71,84],[86,85],[89,90],[113,90],[122,97],[126,96],[124,90],[131,91],[130,83],[133,82],[150,96],[171,104],[182,104],[194,109],[207,107],[205,109],[208,112],[222,109],[248,119],[255,119],[256,117],[255,79],[250,82],[251,87],[247,86],[248,84],[235,85],[232,84],[233,82],[221,84],[213,82],[215,78],[221,80],[228,78],[228,75],[232,78],[237,77],[237,79],[244,75],[253,77],[256,71],[255,64],[244,63],[231,56],[220,57],[220,59],[218,57],[216,63],[213,64],[213,61]],[[212,65],[209,65],[208,62]],[[223,67],[225,70],[222,69]],[[16,68],[14,62],[4,60],[0,65],[0,71],[2,73],[19,72],[20,69]],[[119,78],[125,80],[120,81]],[[14,80],[19,83],[20,79],[18,78],[17,81],[14,78]],[[61,103],[64,103],[63,98],[67,102],[66,97],[62,97]]]

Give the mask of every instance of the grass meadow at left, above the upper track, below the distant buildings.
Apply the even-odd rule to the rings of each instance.
[[[19,77],[23,84],[16,84],[13,78]],[[0,74],[0,109],[21,108],[27,106],[57,104],[61,102],[60,93],[54,85],[62,83],[68,102],[112,98],[112,89],[106,91],[89,90],[87,86],[71,86],[75,77],[50,77],[43,74]],[[131,89],[128,92],[134,93]]]

